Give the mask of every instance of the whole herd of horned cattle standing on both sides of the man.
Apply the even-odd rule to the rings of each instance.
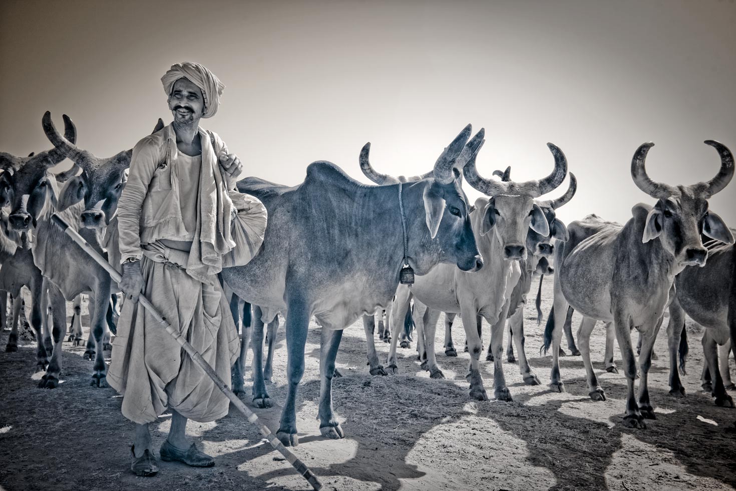
[[[7,323],[10,294],[15,305],[6,349],[17,350],[17,313],[21,288],[26,286],[31,298],[30,325],[38,342],[38,368],[46,370],[39,385],[57,387],[67,331],[66,301],[77,298],[72,336],[79,340],[78,299],[82,293],[89,294],[91,337],[85,354],[94,360],[92,384],[104,386],[103,350],[109,346],[108,325],[114,332],[111,298],[116,298],[118,286],[53,225],[51,216],[58,213],[66,222],[77,224],[79,233],[93,247],[107,255],[111,264],[118,264],[116,207],[132,150],[98,158],[77,146],[71,119],[64,115],[63,121],[61,135],[50,113],[43,116],[43,131],[54,146],[46,152],[26,158],[0,152],[0,325],[4,328]],[[162,128],[159,120],[154,132]],[[507,325],[507,357],[514,358],[513,340],[523,380],[539,384],[526,359],[523,305],[534,275],[552,273],[554,302],[545,329],[545,349],[552,350],[553,390],[565,390],[558,360],[565,330],[568,347],[573,353],[579,347],[582,355],[590,397],[605,400],[592,369],[589,342],[595,322],[604,321],[606,367],[616,370],[612,356],[615,338],[628,382],[623,423],[644,428],[645,419],[655,419],[647,376],[654,340],[669,308],[670,393],[684,395],[678,359],[687,313],[707,328],[703,336],[704,379],[712,380],[715,403],[733,406],[724,381],[730,384],[729,348],[736,351],[730,342],[736,336],[734,236],[708,209],[708,199],[733,177],[729,149],[706,141],[721,158],[718,174],[692,186],[670,186],[648,177],[645,158],[654,144],[643,144],[634,152],[631,177],[638,188],[657,200],[654,206],[634,205],[625,225],[590,215],[565,226],[556,218],[556,209],[573,199],[577,187],[574,175],[570,172],[569,187],[561,197],[540,199],[555,191],[568,174],[561,149],[548,144],[554,169],[547,177],[516,182],[506,169],[498,172],[501,179],[495,180],[481,177],[475,166],[484,130],[471,134],[469,124],[439,155],[434,169],[408,178],[377,172],[369,162],[370,146],[366,144],[359,163],[378,186],[358,183],[326,161],[311,163],[298,186],[282,186],[257,177],[238,182],[239,191],[258,197],[266,205],[269,222],[255,258],[221,273],[226,292],[233,295],[230,305],[236,325],[244,326],[243,353],[233,370],[233,384],[236,390],[243,390],[242,363],[250,344],[254,354],[253,403],[271,405],[265,382],[272,373],[277,314],[283,314],[289,390],[277,431],[279,439],[285,445],[298,443],[295,398],[304,372],[312,317],[322,326],[319,420],[325,437],[344,435],[333,414],[331,381],[336,375],[342,330],[361,316],[372,375],[397,372],[397,344],[404,342],[402,331],[413,319],[422,367],[432,378],[442,378],[434,341],[439,314],[445,312],[447,356],[457,356],[451,327],[457,314],[462,319],[470,355],[467,381],[471,398],[487,398],[479,368],[481,319],[491,326],[486,360],[494,363],[495,398],[512,400],[501,360]],[[51,169],[65,158],[73,163],[71,169],[52,174]],[[461,186],[463,180],[486,196],[471,205]],[[400,270],[406,265],[416,274],[414,283],[400,283]],[[573,309],[583,317],[577,347],[570,335]],[[386,312],[386,328],[381,320],[380,338],[391,342],[386,367],[379,362],[374,345],[373,314],[382,311]],[[269,355],[264,370],[265,324],[269,325]],[[638,367],[631,344],[632,328],[641,336]],[[637,372],[640,386],[635,395]]]

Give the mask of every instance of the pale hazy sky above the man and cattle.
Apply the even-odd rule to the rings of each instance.
[[[650,176],[672,185],[718,172],[704,140],[736,152],[735,25],[732,0],[4,0],[0,150],[48,149],[46,110],[98,156],[130,148],[171,121],[160,77],[192,60],[227,86],[201,126],[247,175],[295,185],[330,160],[367,183],[367,141],[379,172],[420,174],[471,123],[486,128],[482,175],[543,177],[551,141],[578,177],[560,218],[625,222],[654,204],[631,181],[643,142]],[[736,182],[710,199],[732,227],[735,205]]]

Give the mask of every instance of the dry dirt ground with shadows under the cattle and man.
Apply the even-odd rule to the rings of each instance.
[[[551,305],[546,282],[545,314]],[[83,307],[83,311],[86,311]],[[71,304],[67,312],[71,315]],[[540,356],[542,327],[526,307],[530,363],[549,382],[551,358]],[[574,319],[577,326],[577,317]],[[88,317],[83,319],[85,333]],[[665,319],[666,322],[666,319]],[[651,369],[651,400],[657,420],[646,430],[621,425],[626,380],[603,366],[603,325],[593,333],[592,359],[606,390],[606,402],[588,398],[579,356],[562,358],[567,392],[526,386],[518,367],[504,364],[514,402],[477,402],[464,380],[467,353],[445,357],[437,333],[437,358],[446,380],[420,369],[412,349],[399,350],[400,375],[371,376],[361,322],[347,329],[337,366],[344,377],[333,383],[333,401],[346,437],[319,435],[319,328],[310,331],[306,372],[297,406],[300,445],[294,449],[322,480],[325,490],[729,490],[736,484],[736,410],[712,403],[700,390],[701,335],[690,331],[687,398],[668,394],[664,329]],[[456,346],[464,332],[456,323]],[[484,325],[484,344],[489,334]],[[2,333],[1,346],[7,342]],[[275,431],[286,397],[286,342],[277,336],[272,409],[255,409]],[[388,345],[377,342],[385,360]],[[4,348],[3,348],[4,349]],[[310,489],[280,454],[261,441],[235,409],[216,423],[192,423],[188,433],[216,456],[216,467],[194,469],[160,462],[160,473],[140,478],[129,470],[132,424],[120,413],[113,389],[89,386],[90,361],[84,347],[64,344],[63,383],[37,389],[35,350],[24,342],[18,353],[0,353],[0,487],[6,490],[261,490]],[[109,356],[109,353],[106,353]],[[616,359],[620,364],[618,347]],[[249,358],[250,359],[250,358]],[[492,395],[492,364],[484,362]],[[250,369],[246,372],[250,390]],[[244,398],[250,404],[250,397]],[[152,425],[156,448],[170,417]]]

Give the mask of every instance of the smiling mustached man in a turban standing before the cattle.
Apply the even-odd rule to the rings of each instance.
[[[118,204],[120,286],[126,301],[107,373],[110,386],[123,395],[123,416],[135,423],[130,468],[138,476],[158,473],[148,425],[166,409],[171,429],[160,458],[213,466],[214,459],[187,439],[186,423],[218,420],[229,404],[141,308],[141,291],[223,380],[230,380],[240,353],[217,273],[236,249],[231,225],[238,209],[231,196],[243,166],[216,133],[199,127],[200,119],[217,112],[224,85],[208,68],[191,62],[171,66],[161,82],[174,121],[135,145]],[[255,198],[247,201],[251,211],[263,208]],[[265,222],[265,208],[255,212]],[[255,254],[257,247],[247,245]]]

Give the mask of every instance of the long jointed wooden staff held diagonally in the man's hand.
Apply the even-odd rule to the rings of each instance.
[[[61,219],[60,216],[58,216],[56,213],[52,215],[51,219],[52,222],[61,227],[66,235],[71,237],[71,240],[77,242],[77,244],[79,244],[79,247],[82,247],[82,250],[87,252],[87,254],[90,255],[90,257],[93,258],[97,262],[97,264],[105,268],[105,270],[110,273],[110,278],[113,278],[113,280],[116,280],[116,282],[120,283],[122,277],[118,270],[115,269],[110,263],[108,263],[107,260],[102,257],[102,255],[99,255],[99,252],[94,250],[94,248],[87,241],[85,241],[85,239],[83,239],[82,236],[79,235],[79,233],[77,233],[77,230],[74,230],[74,228],[70,227],[68,223],[64,222],[64,220]],[[184,350],[199,365],[199,367],[202,367],[202,370],[205,370],[205,373],[210,376],[210,378],[214,381],[216,386],[219,387],[222,393],[226,395],[228,399],[230,399],[230,402],[233,403],[233,406],[236,406],[238,411],[241,411],[241,413],[243,413],[243,415],[247,418],[248,421],[250,421],[250,423],[253,423],[254,425],[256,425],[256,427],[258,427],[258,431],[261,431],[261,434],[266,437],[266,439],[268,439],[271,446],[279,451],[281,455],[283,455],[286,460],[289,461],[294,469],[296,469],[297,472],[300,473],[302,477],[308,481],[309,484],[311,484],[311,487],[313,487],[316,491],[321,490],[322,484],[319,482],[319,479],[316,478],[314,473],[309,470],[309,467],[307,467],[300,459],[297,459],[297,456],[295,456],[294,453],[291,453],[285,446],[283,446],[283,443],[280,442],[276,435],[271,430],[269,430],[266,425],[261,423],[261,420],[258,419],[258,415],[248,409],[243,401],[240,400],[232,390],[230,390],[230,387],[228,387],[227,384],[222,381],[222,378],[219,378],[215,370],[210,367],[210,364],[208,364],[207,361],[205,361],[205,358],[202,358],[202,355],[200,355],[199,352],[195,350],[194,347],[192,347],[192,345],[190,345],[187,340],[184,339],[179,334],[179,332],[171,326],[171,324],[169,324],[169,322],[166,320],[166,317],[163,317],[160,314],[158,309],[153,306],[151,301],[141,294],[138,296],[138,302],[141,303],[141,305],[143,305],[147,311],[149,311],[149,314],[155,317],[158,323],[164,329],[166,329],[167,333],[171,334],[171,336],[177,340],[181,347],[184,348]]]

